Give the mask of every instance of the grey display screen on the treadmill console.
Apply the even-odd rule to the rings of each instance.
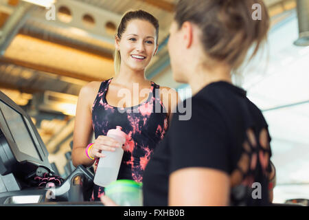
[[[0,100],[0,109],[3,113],[6,123],[12,133],[12,137],[14,138],[14,142],[16,143],[17,148],[21,153],[25,153],[26,155],[30,155],[36,159],[41,160],[41,157],[38,155],[38,151],[36,150],[36,146],[30,136],[30,131],[27,129],[25,125],[26,118],[9,107],[7,104],[1,102]],[[31,128],[29,128],[31,129]],[[36,137],[33,137],[36,138]]]

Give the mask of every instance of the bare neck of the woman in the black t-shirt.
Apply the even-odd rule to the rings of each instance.
[[[225,81],[232,83],[231,81],[231,69],[229,67],[216,67],[211,70],[206,68],[196,68],[196,70],[190,75],[189,85],[192,89],[192,96],[201,91],[204,87],[210,83],[218,81]]]

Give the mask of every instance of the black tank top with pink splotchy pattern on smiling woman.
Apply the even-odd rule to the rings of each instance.
[[[117,179],[143,180],[148,160],[168,129],[168,114],[159,96],[159,85],[151,82],[148,99],[134,107],[118,108],[106,102],[111,80],[101,83],[92,107],[95,139],[110,129],[122,126],[128,135]],[[99,159],[95,162],[95,170]],[[92,200],[99,200],[104,188],[94,185]]]

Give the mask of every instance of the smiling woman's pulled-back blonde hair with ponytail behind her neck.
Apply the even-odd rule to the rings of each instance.
[[[145,21],[149,21],[156,29],[156,44],[159,37],[159,21],[152,16],[152,14],[145,12],[144,10],[137,10],[137,11],[129,11],[124,14],[124,17],[122,17],[122,21],[120,21],[117,33],[115,36],[118,37],[118,39],[122,39],[122,34],[126,31],[126,26],[128,25],[129,21],[132,21],[133,19],[141,19]],[[115,74],[119,73],[120,64],[122,62],[120,52],[119,50],[115,49],[114,52],[114,68],[115,68]]]

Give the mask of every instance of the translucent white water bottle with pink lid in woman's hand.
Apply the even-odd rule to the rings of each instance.
[[[122,131],[121,126],[117,126],[116,129],[108,130],[106,136],[113,137],[121,144],[126,142],[126,133]],[[122,147],[117,147],[115,149],[115,151],[102,152],[106,155],[106,157],[100,158],[97,170],[95,171],[95,177],[93,179],[93,182],[98,186],[108,186],[112,181],[117,179],[124,150]]]

